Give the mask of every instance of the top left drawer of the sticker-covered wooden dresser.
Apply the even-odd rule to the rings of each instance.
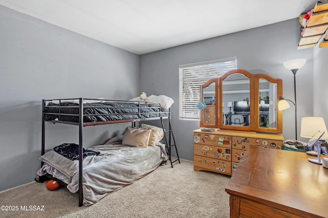
[[[231,148],[231,136],[209,133],[194,133],[194,142],[197,144],[206,144],[207,146],[218,146],[222,148]]]

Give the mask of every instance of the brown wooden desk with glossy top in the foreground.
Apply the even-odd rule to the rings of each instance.
[[[328,217],[328,168],[307,158],[250,147],[226,186],[230,217]]]

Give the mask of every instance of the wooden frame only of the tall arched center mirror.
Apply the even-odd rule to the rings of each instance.
[[[219,105],[220,105],[220,110],[223,111],[223,86],[222,82],[224,79],[229,77],[230,75],[233,74],[242,74],[245,77],[250,79],[250,126],[228,126],[228,125],[223,125],[223,114],[220,112],[219,113],[219,128],[224,129],[224,130],[237,130],[237,131],[254,131],[255,130],[255,125],[254,125],[254,92],[255,89],[252,88],[254,87],[254,75],[251,74],[250,72],[243,70],[243,69],[235,69],[235,70],[230,70],[226,74],[222,75],[222,77],[219,78]],[[281,95],[282,96],[282,95]],[[222,120],[222,124],[221,124]]]

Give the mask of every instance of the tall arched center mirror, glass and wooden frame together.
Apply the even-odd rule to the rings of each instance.
[[[220,78],[220,129],[254,130],[254,78],[245,70],[232,70]]]

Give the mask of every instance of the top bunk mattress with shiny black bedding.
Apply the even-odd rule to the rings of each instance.
[[[44,120],[79,122],[79,104],[72,102],[44,101]],[[54,103],[55,102],[55,103]],[[112,101],[83,104],[83,122],[108,122],[130,119],[147,119],[169,116],[170,109],[163,110],[156,103]]]

